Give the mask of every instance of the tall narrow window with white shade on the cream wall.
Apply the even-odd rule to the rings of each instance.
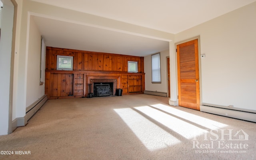
[[[152,83],[161,83],[160,53],[151,55]]]

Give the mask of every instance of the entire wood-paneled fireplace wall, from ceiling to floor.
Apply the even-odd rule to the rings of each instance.
[[[57,55],[73,56],[73,70],[56,70]],[[128,73],[128,61],[138,62],[138,73]],[[49,99],[87,97],[93,78],[116,79],[123,94],[142,94],[144,57],[47,47],[45,77]]]

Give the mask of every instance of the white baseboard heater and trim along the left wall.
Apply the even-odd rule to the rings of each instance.
[[[12,121],[12,131],[14,131],[17,127],[25,126],[28,123],[28,120],[44,105],[47,100],[48,98],[45,94],[36,102],[28,106],[26,108],[26,115],[24,117],[19,117]]]

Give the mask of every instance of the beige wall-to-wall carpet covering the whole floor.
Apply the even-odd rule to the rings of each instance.
[[[0,150],[31,154],[0,159],[255,160],[255,142],[256,123],[169,106],[166,97],[57,99],[26,126],[0,136]]]

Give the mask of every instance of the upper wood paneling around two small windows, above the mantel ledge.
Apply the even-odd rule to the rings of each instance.
[[[73,70],[128,72],[128,61],[135,61],[144,73],[144,57],[53,47],[46,48],[46,70],[56,70],[57,55],[73,56]]]

